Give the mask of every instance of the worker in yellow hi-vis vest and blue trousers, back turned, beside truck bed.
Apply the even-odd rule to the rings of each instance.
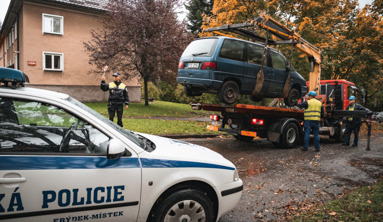
[[[319,141],[319,123],[323,123],[324,108],[322,103],[315,99],[317,93],[311,91],[308,100],[302,103],[296,102],[299,108],[304,108],[304,142],[302,150],[307,151],[310,132],[313,130],[315,151],[319,151],[321,144]]]

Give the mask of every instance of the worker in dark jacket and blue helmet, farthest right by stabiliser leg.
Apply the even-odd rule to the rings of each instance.
[[[355,103],[355,99],[356,98],[354,96],[350,96],[350,98],[348,98],[348,101],[350,102],[350,104],[346,107],[346,110],[370,111],[368,108],[365,108],[362,105]],[[361,130],[361,124],[362,124],[362,118],[347,118],[345,139],[342,145],[344,146],[350,145],[351,131],[354,131],[354,143],[352,144],[352,146],[358,145],[358,138],[359,138],[359,131]]]

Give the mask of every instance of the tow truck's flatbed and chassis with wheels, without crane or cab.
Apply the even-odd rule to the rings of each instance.
[[[326,104],[326,96],[318,95],[317,99]],[[275,99],[269,106],[193,102],[190,103],[190,106],[195,110],[221,112],[221,115],[210,116],[211,125],[206,127],[209,130],[227,132],[241,141],[251,141],[254,137],[267,138],[276,147],[291,148],[295,146],[298,139],[303,138],[304,110],[292,107],[272,107],[277,101],[278,99]],[[343,118],[367,118],[367,121],[364,122],[368,126],[367,149],[369,149],[371,115],[372,112],[368,111],[331,110],[331,112],[325,113],[326,126],[320,127],[319,133],[343,142],[345,129]]]

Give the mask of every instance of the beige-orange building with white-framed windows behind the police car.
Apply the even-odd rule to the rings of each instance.
[[[100,89],[103,70],[98,76],[88,74],[95,66],[89,64],[83,42],[91,39],[91,30],[102,28],[98,20],[107,2],[11,0],[0,30],[0,66],[27,74],[29,87],[65,93],[82,102],[106,101],[109,93]],[[107,82],[113,81],[111,75]],[[123,82],[130,101],[140,102],[139,79]]]

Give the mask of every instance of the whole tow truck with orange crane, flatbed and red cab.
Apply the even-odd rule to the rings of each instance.
[[[258,28],[267,31],[266,38],[257,34],[256,29]],[[344,79],[320,80],[321,52],[318,48],[304,40],[297,33],[294,33],[294,30],[283,26],[264,12],[260,13],[259,17],[246,23],[223,25],[204,30],[204,32],[233,37],[218,31],[231,32],[261,41],[258,43],[264,44],[265,47],[268,45],[289,44],[292,46],[292,50],[298,49],[306,54],[308,61],[311,62],[307,92],[316,91],[318,95],[316,99],[320,100],[325,108],[324,123],[320,127],[320,134],[328,135],[330,139],[336,139],[338,142],[344,142],[346,129],[344,119],[348,117],[367,118],[367,121],[364,121],[364,123],[367,124],[368,128],[367,150],[370,149],[372,112],[344,110],[349,104],[348,96],[357,96],[356,93],[360,92],[361,99],[364,100],[364,89],[358,90],[354,83]],[[269,40],[270,33],[282,40]],[[289,61],[289,70],[290,65],[291,61]],[[263,84],[264,76],[262,70],[257,74],[257,82],[253,91],[255,94]],[[283,95],[288,93],[289,88],[290,75],[286,79],[282,98],[284,98]],[[307,98],[307,96],[301,98],[301,102]],[[241,141],[251,141],[254,137],[267,138],[276,147],[292,148],[300,138],[303,138],[304,110],[297,107],[281,106],[281,101],[282,99],[274,99],[269,106],[248,104],[220,105],[193,102],[190,105],[196,110],[204,109],[221,112],[221,115],[210,116],[212,124],[208,125],[207,129],[227,132],[233,135],[235,139]]]

